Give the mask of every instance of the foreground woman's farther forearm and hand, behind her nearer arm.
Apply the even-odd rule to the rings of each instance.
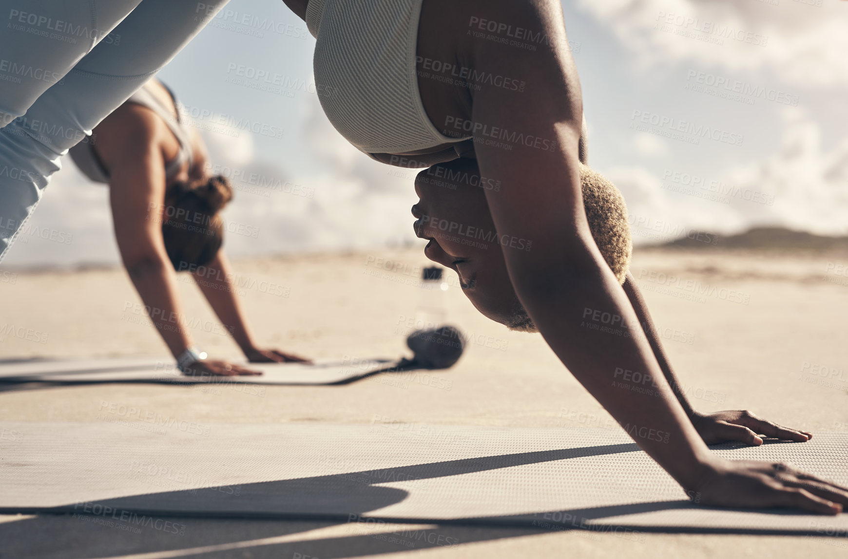
[[[654,321],[650,318],[648,306],[645,304],[642,293],[636,285],[633,274],[630,274],[630,272],[628,272],[623,287],[624,292],[630,300],[630,304],[633,305],[633,311],[635,311],[637,318],[639,318],[639,324],[642,325],[644,335],[648,338],[650,349],[654,352],[654,357],[656,357],[656,361],[662,369],[663,376],[666,377],[674,396],[678,399],[686,415],[689,416],[698,434],[700,434],[706,444],[713,445],[728,440],[739,440],[749,445],[762,445],[762,439],[757,434],[777,437],[778,439],[795,440],[797,442],[804,442],[812,438],[812,434],[806,431],[781,427],[777,423],[758,418],[754,413],[745,410],[726,410],[713,413],[696,412],[695,408],[686,399],[686,395],[683,393],[683,387],[672,370],[672,365],[669,363],[666,351],[662,348],[660,335],[657,333]]]

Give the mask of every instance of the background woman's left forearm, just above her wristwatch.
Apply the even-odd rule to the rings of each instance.
[[[179,357],[192,346],[192,338],[184,326],[176,276],[170,262],[160,257],[149,257],[131,263],[126,268],[153,326],[162,336],[171,355]]]

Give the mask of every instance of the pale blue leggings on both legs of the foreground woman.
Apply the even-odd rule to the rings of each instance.
[[[0,0],[0,260],[59,156],[228,0]]]

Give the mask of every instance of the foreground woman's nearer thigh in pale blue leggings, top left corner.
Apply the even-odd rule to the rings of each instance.
[[[0,127],[24,114],[141,0],[0,0]]]

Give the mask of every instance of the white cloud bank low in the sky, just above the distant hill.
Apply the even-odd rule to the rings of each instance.
[[[823,146],[820,125],[806,111],[787,107],[780,116],[777,152],[702,177],[702,185],[664,183],[641,166],[605,169],[628,202],[634,242],[671,240],[685,228],[732,234],[758,225],[848,234],[848,138]],[[669,191],[664,184],[687,193]]]

